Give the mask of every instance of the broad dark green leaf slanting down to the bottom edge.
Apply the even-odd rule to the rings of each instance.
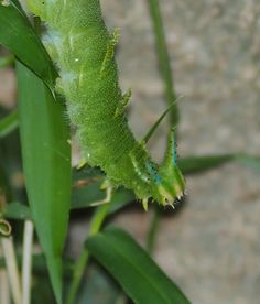
[[[86,246],[134,303],[189,303],[182,291],[127,232],[109,227],[90,237]]]

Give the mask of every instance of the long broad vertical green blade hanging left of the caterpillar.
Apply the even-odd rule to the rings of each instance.
[[[30,69],[18,63],[19,123],[29,205],[62,303],[62,252],[71,205],[69,128],[64,107]]]

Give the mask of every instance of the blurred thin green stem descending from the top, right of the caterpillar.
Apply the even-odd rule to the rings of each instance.
[[[164,82],[164,95],[169,106],[176,99],[176,94],[173,86],[173,77],[171,70],[171,63],[167,52],[165,34],[163,30],[163,20],[160,12],[159,0],[148,0],[150,15],[153,23],[153,32],[155,36],[155,44],[158,51],[158,59],[160,70]],[[178,108],[174,105],[171,115],[171,126],[176,126],[180,120]]]

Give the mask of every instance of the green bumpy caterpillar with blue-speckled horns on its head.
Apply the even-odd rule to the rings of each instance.
[[[98,0],[28,0],[46,24],[43,37],[61,78],[56,89],[67,101],[71,121],[88,164],[100,166],[112,185],[134,191],[144,203],[173,204],[185,182],[176,166],[174,133],[164,162],[158,166],[144,143],[134,140],[124,107],[130,93],[118,85],[115,46]]]

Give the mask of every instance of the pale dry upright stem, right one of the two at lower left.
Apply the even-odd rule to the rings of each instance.
[[[30,304],[31,301],[32,243],[33,222],[28,219],[24,222],[23,235],[22,304]]]

